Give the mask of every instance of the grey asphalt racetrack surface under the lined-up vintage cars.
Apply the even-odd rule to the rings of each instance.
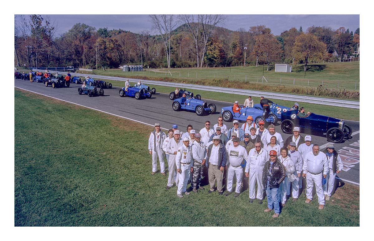
[[[68,101],[70,103],[79,104],[81,106],[100,110],[102,112],[117,115],[123,118],[128,118],[149,124],[151,126],[158,122],[163,129],[171,129],[173,124],[178,125],[178,129],[186,131],[187,125],[192,125],[194,129],[199,132],[204,127],[206,120],[211,122],[211,126],[217,123],[217,118],[221,116],[221,108],[225,106],[232,106],[232,103],[222,101],[206,100],[207,104],[213,103],[217,107],[215,114],[206,116],[197,116],[194,112],[179,111],[175,112],[172,109],[172,101],[169,99],[169,94],[157,92],[152,95],[150,99],[136,100],[134,97],[120,97],[120,87],[113,86],[112,89],[104,89],[104,96],[88,97],[88,95],[79,95],[78,88],[81,84],[76,85],[71,83],[67,88],[55,88],[52,86],[46,87],[43,83],[30,83],[28,80],[15,79],[15,87],[36,92],[37,94],[46,95],[60,100]],[[196,94],[199,94],[196,92]],[[202,100],[204,100],[202,96]],[[241,102],[241,100],[238,100]],[[328,107],[326,107],[328,108]],[[313,112],[313,110],[307,110]],[[339,118],[338,115],[331,117]],[[346,125],[352,128],[353,136],[343,143],[335,143],[334,147],[340,153],[344,163],[343,171],[337,174],[337,177],[342,180],[359,185],[359,122],[344,120]],[[224,122],[227,128],[233,127],[232,122]],[[239,125],[241,126],[241,124]],[[289,136],[282,132],[280,121],[276,124],[276,131],[281,133],[283,140]],[[301,133],[305,137],[305,134]],[[319,144],[324,147],[328,143],[326,137],[319,137],[312,135],[312,143]],[[146,144],[146,143],[145,143]],[[322,148],[321,148],[322,150]]]

